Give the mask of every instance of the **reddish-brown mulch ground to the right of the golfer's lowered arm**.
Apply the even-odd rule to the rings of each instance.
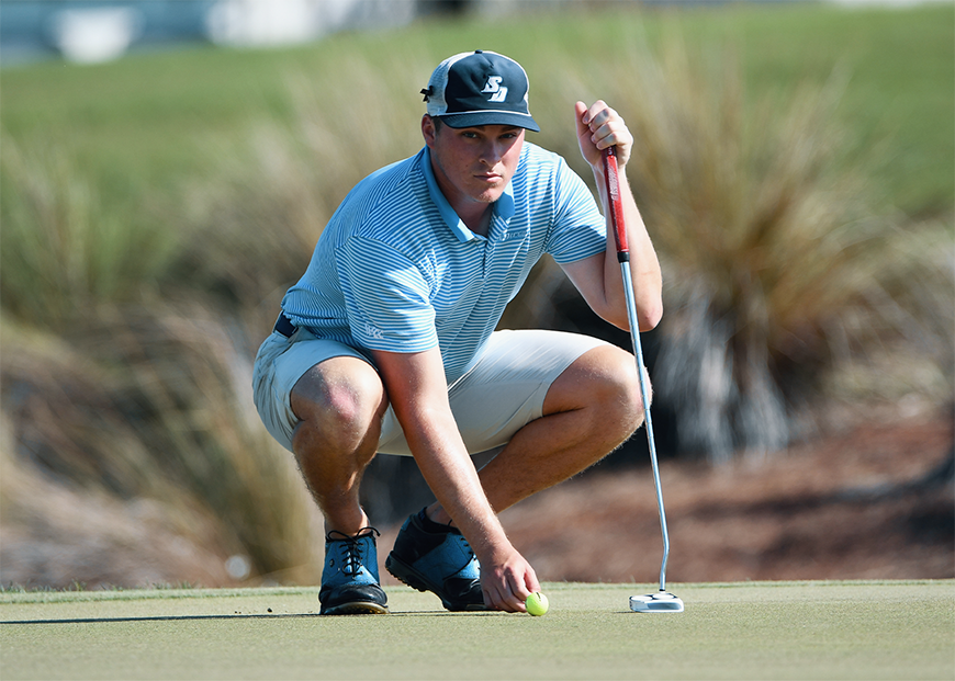
[[[667,581],[955,577],[953,485],[900,491],[941,463],[952,442],[951,422],[936,418],[860,427],[718,469],[664,462]],[[502,521],[542,580],[658,579],[662,540],[649,467],[597,468]],[[393,535],[380,545],[391,546]]]

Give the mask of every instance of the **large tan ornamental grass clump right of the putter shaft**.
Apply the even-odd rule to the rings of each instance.
[[[636,137],[627,171],[664,261],[655,389],[681,450],[778,451],[834,343],[865,354],[936,326],[920,300],[894,313],[915,287],[952,302],[935,258],[951,238],[876,211],[874,159],[838,122],[839,68],[821,87],[751,93],[733,50],[636,45],[602,84]]]

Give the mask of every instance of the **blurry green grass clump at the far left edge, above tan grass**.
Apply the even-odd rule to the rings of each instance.
[[[53,328],[98,304],[138,299],[178,237],[142,206],[105,208],[63,140],[18,140],[2,128],[0,227],[0,306]]]

